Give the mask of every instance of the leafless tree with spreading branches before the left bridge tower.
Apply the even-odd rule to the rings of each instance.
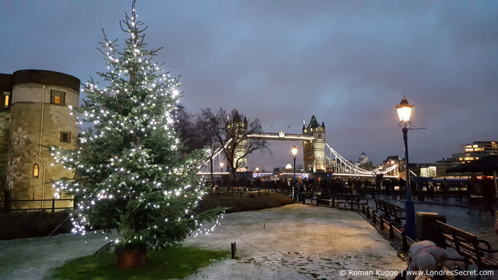
[[[237,168],[247,167],[241,166],[241,163],[247,164],[243,158],[246,158],[249,153],[256,150],[271,153],[266,140],[250,137],[263,132],[259,120],[249,122],[246,117],[242,120],[240,116],[237,109],[227,114],[223,108],[220,108],[215,114],[211,109],[206,108],[201,109],[201,114],[197,117],[198,132],[207,145],[213,148],[224,146],[228,140],[232,139],[223,152],[234,180],[237,179]]]

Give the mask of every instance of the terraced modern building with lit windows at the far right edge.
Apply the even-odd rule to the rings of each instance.
[[[436,161],[437,174],[447,176],[446,169],[470,162],[481,157],[498,154],[498,141],[476,141],[472,144],[462,145],[462,152],[452,154],[451,158]],[[460,176],[465,174],[451,174]]]

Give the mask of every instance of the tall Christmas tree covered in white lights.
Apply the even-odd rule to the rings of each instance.
[[[108,85],[101,89],[90,79],[84,104],[70,108],[91,127],[76,150],[50,148],[57,162],[74,170],[74,178],[54,183],[57,192],[78,200],[73,231],[117,230],[121,237],[112,244],[119,265],[128,267],[144,264],[147,249],[211,232],[214,226],[202,224],[218,224],[223,209],[194,213],[203,195],[195,166],[205,153],[182,154],[174,116],[178,77],[152,62],[159,49],[145,49],[147,27],[137,21],[134,2],[120,25],[127,34],[123,50],[105,33],[100,43],[108,71],[97,74]]]

